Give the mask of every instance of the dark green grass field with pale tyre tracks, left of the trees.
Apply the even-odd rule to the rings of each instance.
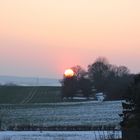
[[[60,102],[60,87],[0,86],[0,104]]]

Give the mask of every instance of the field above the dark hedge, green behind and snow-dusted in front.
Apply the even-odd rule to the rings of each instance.
[[[1,127],[118,126],[121,101],[61,102],[60,87],[0,87]]]

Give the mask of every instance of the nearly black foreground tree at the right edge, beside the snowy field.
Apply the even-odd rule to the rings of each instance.
[[[140,74],[134,76],[134,81],[125,94],[126,102],[123,106],[123,138],[127,140],[140,140]]]

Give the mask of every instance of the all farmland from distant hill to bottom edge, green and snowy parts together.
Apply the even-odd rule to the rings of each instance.
[[[6,131],[0,132],[0,140],[104,140],[112,136],[121,138],[121,131],[118,130],[122,101],[62,102],[60,91],[60,87],[1,86],[1,130]],[[113,126],[115,129],[91,129],[99,126]],[[20,132],[16,131],[21,127]],[[33,128],[36,131],[32,131]],[[77,128],[79,131],[75,131]],[[49,131],[43,131],[44,129]]]

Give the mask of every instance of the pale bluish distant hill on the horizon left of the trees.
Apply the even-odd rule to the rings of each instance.
[[[0,85],[61,86],[59,79],[18,76],[0,76]]]

